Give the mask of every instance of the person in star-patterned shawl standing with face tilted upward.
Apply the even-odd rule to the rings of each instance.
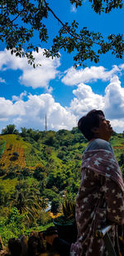
[[[76,198],[78,238],[76,243],[67,244],[63,249],[67,247],[72,256],[108,255],[103,239],[96,237],[96,230],[114,224],[109,234],[119,255],[117,225],[124,224],[124,184],[109,143],[113,130],[103,111],[96,109],[80,118],[78,126],[88,139]],[[59,244],[57,234],[47,239],[50,244]]]

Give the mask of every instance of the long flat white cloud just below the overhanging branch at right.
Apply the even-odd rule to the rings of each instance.
[[[90,68],[76,70],[74,67],[70,67],[64,71],[64,77],[61,80],[64,85],[78,85],[80,83],[89,83],[96,80],[107,81],[112,78],[113,75],[120,72],[117,65],[112,66],[112,70],[107,71],[103,66],[91,66]]]

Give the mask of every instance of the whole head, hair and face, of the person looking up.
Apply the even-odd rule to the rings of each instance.
[[[110,122],[105,119],[102,110],[93,109],[88,112],[79,119],[78,127],[88,141],[93,138],[109,141],[113,133]]]

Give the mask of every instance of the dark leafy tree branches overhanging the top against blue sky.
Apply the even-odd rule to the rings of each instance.
[[[67,0],[75,7],[80,7],[83,0]],[[122,8],[122,0],[88,0],[94,12],[111,12],[114,8]],[[49,13],[60,22],[60,31],[56,31],[50,49],[45,49],[45,56],[60,56],[60,50],[68,53],[74,51],[74,65],[84,65],[85,60],[98,63],[99,56],[112,51],[117,58],[123,56],[124,41],[122,34],[111,34],[105,39],[101,33],[89,31],[87,27],[79,26],[75,20],[63,22],[57,17],[48,0],[2,0],[0,1],[0,41],[4,42],[7,50],[16,56],[26,56],[30,64],[34,63],[32,51],[39,51],[33,43],[33,36],[38,31],[41,43],[49,39],[45,19]],[[97,47],[94,47],[97,46]]]

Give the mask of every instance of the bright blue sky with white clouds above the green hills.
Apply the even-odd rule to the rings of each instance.
[[[69,0],[50,1],[50,7],[62,22],[79,22],[104,36],[124,33],[124,9],[101,15],[84,1],[76,9]],[[96,65],[87,61],[87,68],[74,70],[73,55],[60,51],[60,59],[46,59],[43,48],[50,46],[60,24],[50,14],[45,20],[50,33],[47,45],[41,45],[35,70],[26,59],[11,56],[4,43],[0,46],[0,130],[9,123],[21,127],[71,129],[91,109],[102,109],[116,132],[124,130],[124,60],[111,53],[100,57]],[[38,42],[37,36],[33,41]],[[39,42],[40,43],[40,42]]]

